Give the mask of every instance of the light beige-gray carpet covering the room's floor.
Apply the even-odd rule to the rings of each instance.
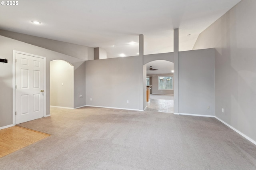
[[[256,146],[215,118],[52,108],[20,126],[52,136],[0,158],[1,170],[256,169]]]

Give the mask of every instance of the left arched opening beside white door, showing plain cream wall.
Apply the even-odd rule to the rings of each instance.
[[[50,105],[74,109],[74,66],[67,61],[50,61]]]

